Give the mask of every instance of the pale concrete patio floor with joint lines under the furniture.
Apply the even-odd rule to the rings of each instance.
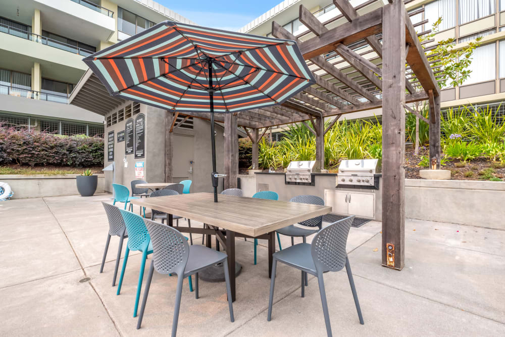
[[[0,335],[170,334],[176,277],[155,273],[142,328],[136,330],[140,255],[128,259],[120,296],[111,286],[117,237],[99,273],[108,232],[101,201],[111,202],[110,195],[0,203]],[[347,243],[365,325],[359,324],[345,271],[325,274],[335,335],[505,335],[505,231],[408,219],[406,266],[396,271],[380,265],[380,230],[375,221],[351,228]],[[201,243],[200,235],[193,239]],[[236,241],[243,271],[234,323],[224,283],[200,281],[195,300],[185,281],[180,336],[326,334],[316,280],[309,277],[301,298],[299,272],[282,264],[267,322],[270,279],[266,242],[260,245],[254,265],[251,240]],[[282,237],[282,245],[290,246],[290,239]],[[80,282],[85,278],[90,280]]]

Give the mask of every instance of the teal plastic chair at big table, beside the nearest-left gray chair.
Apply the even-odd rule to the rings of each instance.
[[[144,277],[145,260],[147,259],[147,255],[153,253],[153,246],[151,244],[151,238],[147,232],[147,228],[145,227],[144,219],[135,213],[121,209],[120,211],[126,225],[126,231],[128,232],[128,245],[126,246],[123,268],[121,269],[118,292],[116,295],[119,295],[121,293],[121,286],[123,285],[123,277],[125,274],[126,263],[128,262],[128,255],[130,254],[130,251],[142,252],[142,262],[140,264],[140,273],[138,275],[137,294],[135,296],[135,308],[133,310],[133,317],[137,317],[138,300],[140,299],[140,290],[142,288],[142,279]],[[192,292],[193,284],[191,282],[191,276],[188,277],[188,280],[189,291]]]

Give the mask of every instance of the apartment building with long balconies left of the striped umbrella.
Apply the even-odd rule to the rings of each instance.
[[[151,0],[0,0],[0,123],[103,136],[103,115],[68,104],[82,58],[164,20],[192,23]]]

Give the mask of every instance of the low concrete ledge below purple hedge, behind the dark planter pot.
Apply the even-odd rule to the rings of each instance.
[[[0,181],[7,182],[13,192],[12,199],[41,198],[77,195],[75,177],[78,174],[6,174],[0,175]],[[98,176],[98,186],[95,193],[104,192],[105,175]]]

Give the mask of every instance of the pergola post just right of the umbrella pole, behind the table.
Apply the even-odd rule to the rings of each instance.
[[[238,174],[238,138],[237,116],[224,116],[224,189],[237,188]]]

